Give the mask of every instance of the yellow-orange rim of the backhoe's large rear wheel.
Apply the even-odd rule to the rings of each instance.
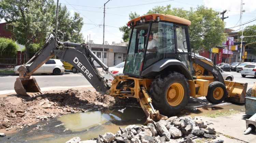
[[[180,83],[173,83],[168,88],[166,99],[171,106],[177,106],[181,103],[184,97],[184,89]]]

